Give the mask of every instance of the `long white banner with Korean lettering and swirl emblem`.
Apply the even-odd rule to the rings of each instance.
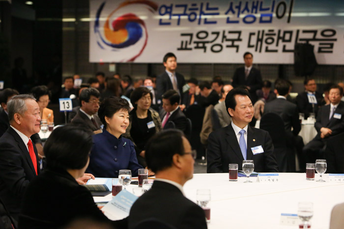
[[[318,64],[343,64],[344,1],[90,0],[90,62],[293,64],[310,43]]]

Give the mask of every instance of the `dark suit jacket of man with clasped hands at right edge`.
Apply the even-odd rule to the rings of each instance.
[[[324,105],[320,107],[318,115],[316,117],[315,129],[318,131],[318,134],[315,136],[315,139],[319,140],[320,138],[320,129],[321,127],[330,128],[332,134],[329,137],[336,136],[344,131],[344,102],[340,102],[333,114],[340,114],[342,117],[340,119],[335,118],[333,115],[330,117],[331,105]],[[325,137],[323,140],[327,140],[329,137]]]

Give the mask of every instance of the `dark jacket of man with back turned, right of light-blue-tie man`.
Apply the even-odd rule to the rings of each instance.
[[[264,114],[276,113],[281,116],[286,131],[291,132],[291,127],[293,127],[292,133],[298,135],[301,130],[301,124],[299,120],[299,112],[294,103],[289,102],[285,99],[276,99],[265,104]]]

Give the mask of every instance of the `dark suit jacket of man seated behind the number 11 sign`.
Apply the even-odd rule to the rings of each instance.
[[[317,104],[314,104],[314,111],[313,111],[313,105],[312,103],[309,103],[308,101],[307,92],[302,92],[298,94],[296,97],[297,108],[299,109],[300,113],[305,114],[305,119],[308,118],[310,113],[315,113],[315,116],[318,113],[319,107],[321,105],[321,101],[323,99],[322,94],[316,91],[315,98],[316,98]]]

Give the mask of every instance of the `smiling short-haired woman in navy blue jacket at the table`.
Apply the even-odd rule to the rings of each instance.
[[[129,126],[129,102],[111,97],[101,102],[98,115],[103,132],[93,136],[93,147],[87,172],[100,178],[117,178],[118,171],[130,169],[133,177],[143,168],[136,157],[134,144],[122,137]]]

